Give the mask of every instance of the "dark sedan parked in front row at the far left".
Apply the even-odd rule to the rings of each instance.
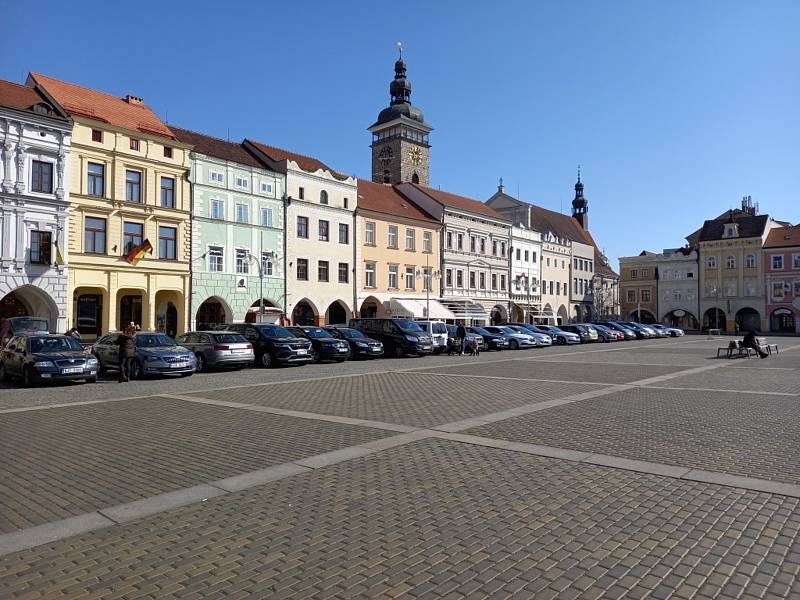
[[[98,362],[69,335],[27,333],[0,351],[0,380],[19,377],[26,387],[42,381],[97,381]]]

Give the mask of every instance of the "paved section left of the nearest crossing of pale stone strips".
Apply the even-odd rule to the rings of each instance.
[[[387,435],[165,398],[0,415],[0,532]]]

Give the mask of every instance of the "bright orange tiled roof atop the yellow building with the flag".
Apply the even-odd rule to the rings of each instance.
[[[45,92],[73,116],[86,117],[124,129],[175,139],[169,127],[144,103],[130,103],[124,98],[53,79],[39,73],[31,73],[30,78],[41,85]]]

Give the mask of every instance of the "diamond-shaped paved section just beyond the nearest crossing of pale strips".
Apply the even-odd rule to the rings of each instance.
[[[505,363],[498,363],[505,364]],[[212,400],[432,427],[533,402],[597,389],[595,385],[376,373],[189,394]]]

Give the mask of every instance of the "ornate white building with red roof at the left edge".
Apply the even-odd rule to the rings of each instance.
[[[0,81],[0,316],[67,316],[72,120],[42,90]]]

